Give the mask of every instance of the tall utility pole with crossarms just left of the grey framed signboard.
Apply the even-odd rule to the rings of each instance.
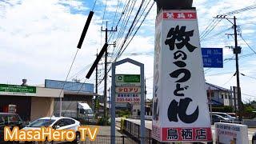
[[[107,22],[106,22],[106,29],[102,31],[105,31],[105,43],[107,44],[107,32],[114,32],[117,31],[117,28],[115,28],[115,30],[113,30],[113,27],[111,28],[111,30],[107,29]],[[106,110],[106,82],[107,82],[107,48],[106,48],[106,52],[105,52],[105,70],[104,70],[104,125],[106,125],[106,117],[107,117],[107,110]]]

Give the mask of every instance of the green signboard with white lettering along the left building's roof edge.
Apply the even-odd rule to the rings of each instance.
[[[17,86],[0,84],[0,94],[36,94],[35,86]]]

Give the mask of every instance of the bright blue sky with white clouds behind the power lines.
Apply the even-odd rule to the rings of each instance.
[[[94,11],[94,17],[67,80],[72,81],[76,78],[81,82],[94,83],[95,74],[90,79],[85,77],[96,58],[97,51],[102,49],[105,42],[105,33],[102,29],[105,30],[106,22],[109,29],[112,26],[114,30],[117,26],[117,32],[108,34],[109,43],[116,41],[116,47],[111,45],[108,49],[112,56],[108,59],[113,60],[142,0],[130,1],[125,9],[127,2],[127,0],[96,0],[96,2],[94,0],[0,0],[0,83],[20,85],[22,78],[26,78],[28,84],[33,86],[44,84],[46,78],[65,81],[90,10]],[[145,3],[148,2],[149,5],[143,5],[142,10],[149,10],[153,1],[145,0]],[[198,11],[201,36],[211,22],[218,23],[206,38],[201,39],[201,46],[223,48],[224,66],[223,68],[206,68],[206,82],[230,89],[230,86],[236,86],[235,61],[233,51],[226,46],[234,46],[234,38],[228,36],[228,34],[234,34],[234,30],[232,24],[226,19],[218,22],[214,17],[256,5],[256,1],[198,0],[194,1],[193,5]],[[128,18],[129,13],[128,22],[123,22]],[[142,14],[142,18],[145,14],[146,12]],[[234,14],[230,15],[231,18],[233,16]],[[242,47],[240,55],[243,57],[239,60],[239,68],[240,72],[245,74],[245,76],[240,75],[242,100],[248,102],[256,99],[254,88],[256,86],[256,53],[254,53],[256,51],[254,47],[256,9],[247,10],[235,16],[239,27],[238,46]],[[138,25],[142,22],[142,26],[123,55],[118,58],[118,60],[132,58],[144,63],[147,98],[152,98],[153,94],[155,17],[156,4],[144,22],[142,18],[138,21]],[[119,19],[120,22],[118,22]],[[250,55],[247,56],[247,54]],[[233,59],[226,60],[226,58]],[[99,65],[100,76],[103,74],[102,63],[103,61]],[[117,68],[117,73],[137,74],[138,68],[125,64]],[[110,73],[108,75],[110,76]],[[110,77],[107,87],[110,87]],[[102,94],[103,82],[98,89]]]

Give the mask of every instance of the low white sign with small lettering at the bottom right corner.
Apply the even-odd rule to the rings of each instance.
[[[249,143],[246,125],[215,123],[216,143]]]

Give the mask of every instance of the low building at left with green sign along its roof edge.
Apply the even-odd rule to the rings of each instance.
[[[25,122],[51,116],[54,98],[63,98],[60,89],[0,84],[0,112],[17,113]]]

